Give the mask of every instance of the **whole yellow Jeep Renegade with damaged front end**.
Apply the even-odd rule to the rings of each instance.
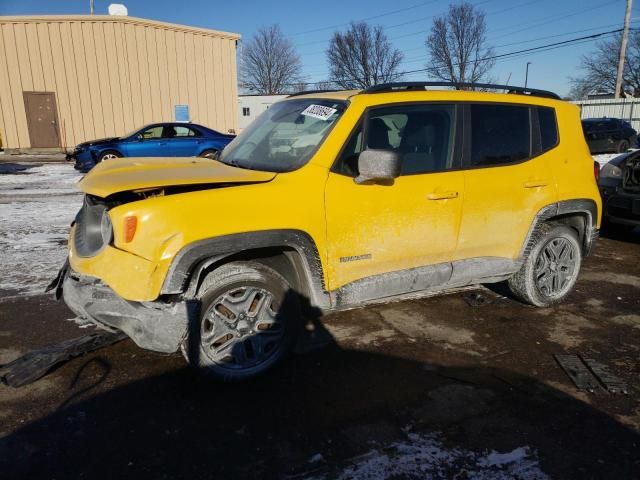
[[[80,183],[57,293],[228,380],[285,354],[303,304],[500,281],[560,302],[601,215],[578,108],[433,86],[292,95],[217,161],[100,163]]]

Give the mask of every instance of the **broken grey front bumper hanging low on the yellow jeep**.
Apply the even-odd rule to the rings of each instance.
[[[195,303],[131,302],[97,278],[68,268],[64,271],[65,268],[59,275],[56,291],[58,295],[62,293],[76,315],[126,333],[141,348],[163,353],[178,350],[189,319],[197,313]]]

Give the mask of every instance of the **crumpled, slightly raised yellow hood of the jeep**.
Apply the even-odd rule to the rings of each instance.
[[[79,183],[97,197],[176,185],[268,182],[273,172],[246,170],[206,158],[122,158],[96,165]]]

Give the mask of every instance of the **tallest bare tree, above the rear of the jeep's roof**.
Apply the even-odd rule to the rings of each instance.
[[[450,5],[447,14],[434,18],[425,42],[430,56],[427,73],[454,83],[490,81],[487,77],[495,60],[486,31],[484,13],[473,5]]]

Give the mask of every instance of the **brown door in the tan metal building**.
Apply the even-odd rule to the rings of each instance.
[[[31,148],[60,146],[58,110],[53,92],[22,92]]]

